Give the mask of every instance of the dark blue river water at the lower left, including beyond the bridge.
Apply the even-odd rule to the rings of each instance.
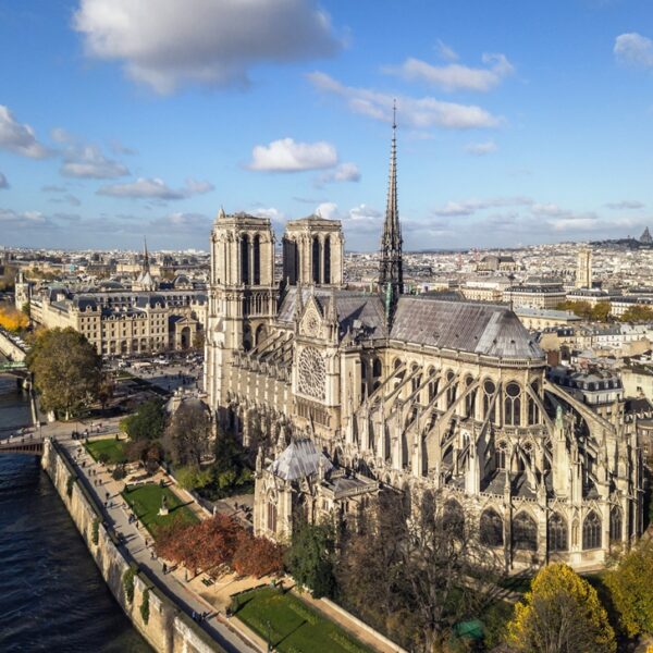
[[[0,438],[29,421],[0,375]],[[115,603],[39,461],[0,455],[0,651],[151,653]]]

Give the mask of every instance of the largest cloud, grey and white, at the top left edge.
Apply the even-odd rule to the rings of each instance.
[[[160,94],[187,83],[247,84],[257,63],[341,48],[315,0],[81,0],[73,26],[88,56],[122,62]]]

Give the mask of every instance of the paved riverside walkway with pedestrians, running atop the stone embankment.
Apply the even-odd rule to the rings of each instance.
[[[65,434],[59,435],[58,440],[71,457],[76,460],[79,479],[86,488],[98,497],[100,503],[104,502],[107,494],[109,495],[106,508],[107,521],[124,537],[123,546],[128,555],[146,570],[150,579],[186,614],[190,616],[193,612],[196,614],[207,613],[209,616],[201,623],[201,628],[226,651],[230,653],[263,651],[264,648],[261,646],[260,641],[255,643],[255,638],[247,640],[244,632],[236,632],[234,627],[231,626],[231,621],[227,626],[225,617],[217,613],[201,596],[189,591],[184,579],[181,578],[181,574],[163,574],[162,564],[153,558],[151,547],[146,546],[146,539],[148,543],[151,543],[151,535],[143,525],[138,528],[135,523],[130,523],[128,507],[120,495],[124,483],[114,481],[104,466],[95,463],[86,448],[71,439],[70,424],[64,426],[66,427]],[[94,472],[94,476],[90,476],[90,472]],[[95,485],[94,481],[99,481],[99,485]]]

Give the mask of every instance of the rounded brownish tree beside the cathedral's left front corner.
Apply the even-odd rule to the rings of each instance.
[[[163,434],[163,448],[175,465],[199,468],[210,451],[213,429],[208,408],[201,402],[182,402]]]

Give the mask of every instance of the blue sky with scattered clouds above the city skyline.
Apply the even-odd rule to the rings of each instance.
[[[221,207],[379,246],[653,227],[651,0],[0,0],[0,245],[208,249]]]

